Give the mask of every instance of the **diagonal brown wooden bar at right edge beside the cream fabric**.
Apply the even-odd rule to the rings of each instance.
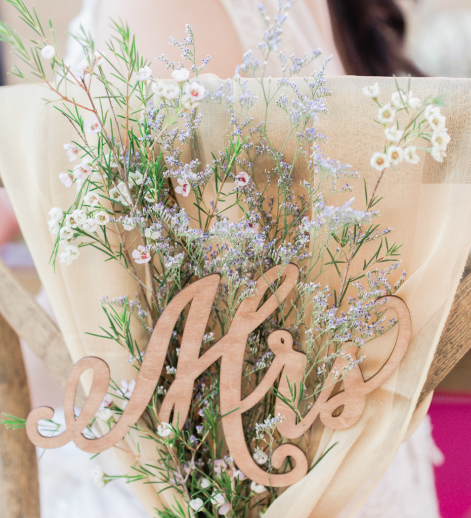
[[[458,286],[417,406],[471,348],[471,275]],[[471,372],[470,372],[471,375]]]

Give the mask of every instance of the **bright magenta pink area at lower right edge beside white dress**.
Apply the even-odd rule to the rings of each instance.
[[[471,394],[435,393],[432,435],[445,455],[435,468],[442,518],[471,518]]]

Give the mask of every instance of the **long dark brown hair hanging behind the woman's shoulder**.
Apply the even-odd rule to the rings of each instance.
[[[405,21],[394,0],[327,0],[348,75],[423,76],[404,55]]]

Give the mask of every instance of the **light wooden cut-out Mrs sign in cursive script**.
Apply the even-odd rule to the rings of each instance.
[[[188,312],[187,323],[183,331],[178,357],[178,368],[175,380],[163,400],[159,413],[160,422],[168,422],[174,410],[173,425],[183,427],[187,418],[193,385],[211,364],[221,361],[220,370],[220,406],[222,426],[225,440],[231,456],[238,469],[246,476],[263,485],[275,487],[289,486],[302,479],[308,470],[308,463],[303,451],[294,444],[282,444],[273,453],[272,464],[280,468],[287,456],[292,457],[295,467],[287,473],[268,474],[255,464],[246,445],[242,430],[242,413],[256,405],[267,394],[282,372],[279,390],[289,395],[288,377],[291,384],[299,386],[304,377],[305,354],[295,351],[292,347],[291,334],[286,330],[274,331],[268,337],[269,348],[275,354],[272,364],[267,369],[262,381],[244,399],[240,399],[242,365],[250,333],[272,314],[291,292],[299,270],[296,265],[288,264],[281,271],[279,267],[270,268],[256,281],[254,295],[242,300],[234,315],[229,332],[199,356],[203,335],[209,319],[213,300],[216,296],[219,275],[209,275],[185,287],[165,308],[155,325],[142,362],[134,392],[118,423],[107,434],[98,439],[88,439],[82,435],[82,430],[88,426],[100,406],[109,385],[109,367],[100,358],[93,356],[82,358],[76,363],[67,380],[64,398],[64,412],[67,429],[55,437],[44,437],[39,434],[37,424],[41,419],[52,419],[54,411],[50,407],[35,408],[30,412],[26,422],[26,432],[30,440],[40,448],[58,448],[69,441],[89,453],[98,453],[119,442],[146,410],[155,386],[164,366],[170,337],[180,313],[188,303],[193,301]],[[261,300],[270,285],[283,278],[275,293],[259,307]],[[334,362],[334,368],[327,379],[326,386],[332,388],[323,390],[315,404],[309,410],[302,423],[296,424],[296,415],[292,410],[277,400],[275,412],[286,416],[286,420],[278,425],[280,433],[287,438],[300,437],[304,431],[320,416],[322,423],[334,429],[353,426],[360,419],[365,406],[365,396],[377,389],[395,370],[406,352],[410,338],[410,315],[406,304],[398,297],[390,296],[382,308],[394,308],[398,318],[398,335],[393,352],[387,362],[366,382],[358,367],[350,370],[344,378],[345,390],[331,396],[335,383],[334,370],[342,371],[346,360],[341,356]],[[354,357],[357,346],[351,345],[349,351]],[[90,394],[80,415],[75,419],[74,400],[80,375],[87,369],[94,370]],[[333,416],[334,410],[344,406],[338,416]],[[236,409],[236,410],[235,410]]]

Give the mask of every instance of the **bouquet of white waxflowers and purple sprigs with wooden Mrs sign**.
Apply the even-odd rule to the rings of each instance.
[[[137,460],[124,477],[153,485],[158,516],[271,516],[283,488],[335,454],[338,442],[322,444],[324,427],[358,423],[367,395],[406,353],[410,314],[394,295],[406,272],[392,228],[377,222],[378,188],[402,162],[426,153],[443,162],[450,137],[439,98],[416,97],[410,80],[404,91],[396,82],[386,104],[378,83],[364,88],[384,136],[368,189],[322,151],[329,58],[311,73],[319,50],[279,51],[291,2],[273,20],[259,6],[258,55],[246,52],[223,82],[202,75],[210,56],[197,61],[189,25],[182,42],[170,40],[182,61],[158,58],[171,79],[153,76],[121,22],[106,49],[76,36],[85,57],[71,69],[55,52],[52,24],[46,35],[34,9],[9,2],[38,40],[27,50],[5,24],[1,38],[76,134],[63,144],[75,165],[56,180],[73,201],[49,211],[51,267],[74,268],[94,249],[135,285],[103,294],[107,325],[88,330],[124,349],[135,376],[110,377],[103,359],[82,358],[66,388],[66,430],[51,434],[53,412],[41,407],[24,424],[28,436],[91,453],[132,443]],[[272,54],[278,79],[266,77]],[[13,74],[28,79],[19,67]],[[228,115],[227,132],[206,138],[205,110]],[[354,186],[360,195],[344,201]],[[393,351],[365,381],[362,352],[384,337]],[[93,476],[101,486],[117,478]]]

